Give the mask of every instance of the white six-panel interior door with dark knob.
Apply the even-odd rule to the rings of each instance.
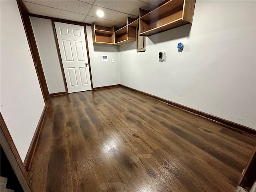
[[[68,92],[92,90],[84,26],[54,22]]]

